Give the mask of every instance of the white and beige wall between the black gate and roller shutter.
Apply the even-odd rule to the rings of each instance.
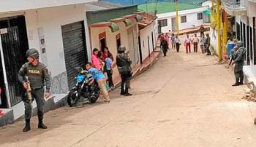
[[[83,5],[26,12],[29,47],[39,49],[37,29],[43,28],[44,30],[47,62],[51,76],[56,76],[66,71],[61,25],[83,21],[84,15]]]

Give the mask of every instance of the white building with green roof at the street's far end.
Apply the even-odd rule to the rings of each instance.
[[[168,6],[168,7],[167,7]],[[152,4],[142,4],[138,7],[146,12],[157,12],[158,33],[176,31],[176,9],[173,2],[160,2]],[[178,28],[184,30],[194,28],[203,23],[209,23],[209,7],[200,7],[190,4],[178,4]]]

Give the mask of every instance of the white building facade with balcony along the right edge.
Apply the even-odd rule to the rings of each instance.
[[[256,1],[222,1],[222,9],[234,17],[233,32],[236,39],[244,42],[246,60],[244,65],[245,81],[252,84],[256,92]]]

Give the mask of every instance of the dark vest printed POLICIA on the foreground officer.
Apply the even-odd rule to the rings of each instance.
[[[26,63],[26,75],[29,76],[29,82],[32,89],[45,86],[43,70],[45,65],[38,63],[37,66]]]

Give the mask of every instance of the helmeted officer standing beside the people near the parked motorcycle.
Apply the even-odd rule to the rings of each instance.
[[[120,46],[118,48],[118,54],[116,55],[116,65],[118,66],[118,71],[121,75],[121,95],[130,96],[128,92],[129,82],[132,78],[132,61],[129,59],[128,55],[125,53],[126,47]]]

